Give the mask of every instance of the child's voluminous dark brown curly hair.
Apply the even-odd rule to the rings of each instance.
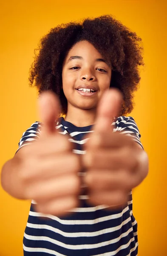
[[[110,87],[123,95],[121,115],[134,108],[134,92],[138,89],[139,66],[143,65],[142,39],[113,15],[85,18],[79,22],[58,25],[43,36],[34,50],[34,62],[29,70],[29,84],[38,93],[51,90],[59,96],[62,114],[67,113],[67,99],[62,90],[62,64],[71,47],[79,41],[90,42],[110,61]]]

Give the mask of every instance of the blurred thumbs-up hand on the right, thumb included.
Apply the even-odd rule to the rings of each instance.
[[[128,201],[132,188],[141,183],[137,171],[143,149],[132,137],[113,132],[113,117],[119,115],[122,95],[116,89],[106,92],[97,111],[94,132],[85,143],[82,157],[86,169],[83,182],[88,186],[89,203],[119,208]],[[109,209],[110,209],[109,208]]]

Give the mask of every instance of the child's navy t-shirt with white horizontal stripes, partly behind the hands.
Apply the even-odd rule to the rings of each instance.
[[[131,116],[119,116],[111,124],[113,131],[132,136],[140,142],[139,129]],[[40,137],[42,122],[34,122],[23,133],[17,151]],[[93,125],[76,127],[60,117],[55,123],[60,134],[68,134],[75,154],[85,154],[84,135],[93,132]],[[80,207],[62,218],[35,212],[32,200],[23,238],[24,256],[136,256],[138,253],[137,222],[132,212],[132,191],[127,204],[118,210],[106,205],[88,204],[87,195],[80,195]],[[47,217],[47,218],[41,218]]]

